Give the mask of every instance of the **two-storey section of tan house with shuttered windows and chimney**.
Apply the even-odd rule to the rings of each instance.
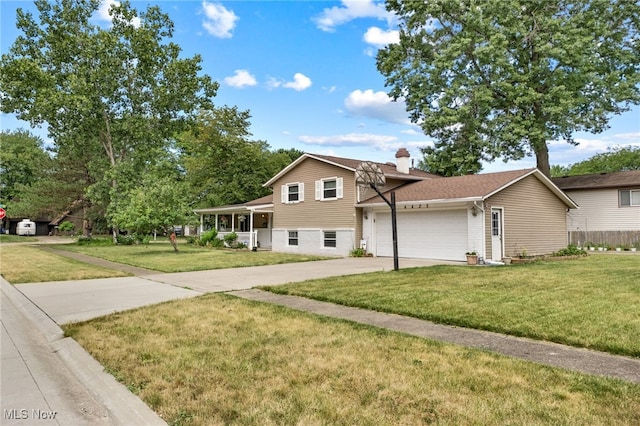
[[[399,166],[378,164],[387,188],[424,179],[441,179],[409,167],[409,153],[396,154]],[[375,195],[355,182],[360,160],[304,154],[265,186],[273,188],[273,250],[347,256],[362,238],[360,200]],[[366,192],[366,193],[365,193]]]

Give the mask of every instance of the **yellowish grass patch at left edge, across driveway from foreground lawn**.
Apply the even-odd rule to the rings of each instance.
[[[0,245],[0,265],[2,276],[12,284],[129,275],[57,256],[30,245]]]

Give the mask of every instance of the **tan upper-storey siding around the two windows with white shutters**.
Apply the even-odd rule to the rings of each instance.
[[[326,178],[343,179],[343,197],[337,200],[315,199],[315,181]],[[282,185],[304,183],[304,201],[281,202]],[[273,183],[274,228],[338,229],[356,227],[356,185],[354,173],[314,159],[305,159],[289,173]]]

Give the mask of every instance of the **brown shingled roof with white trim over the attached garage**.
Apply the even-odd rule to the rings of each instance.
[[[394,189],[394,191],[396,193],[396,203],[482,201],[530,175],[534,175],[567,206],[571,208],[577,207],[566,194],[538,169],[428,179],[406,184]],[[380,196],[375,196],[361,202],[360,205],[380,203],[384,203],[384,201]]]

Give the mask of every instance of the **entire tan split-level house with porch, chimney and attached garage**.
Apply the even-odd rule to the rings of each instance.
[[[411,168],[406,149],[396,160],[376,164],[386,180],[379,189],[387,199],[395,192],[400,257],[463,261],[475,251],[498,261],[568,244],[567,211],[577,205],[537,169],[443,178]],[[260,246],[274,251],[347,256],[364,247],[375,256],[392,256],[390,208],[356,183],[361,163],[304,154],[265,183],[273,188],[268,202],[196,210],[201,229],[223,231],[224,217],[224,231],[269,239]],[[252,236],[256,228],[264,230],[262,237]]]

